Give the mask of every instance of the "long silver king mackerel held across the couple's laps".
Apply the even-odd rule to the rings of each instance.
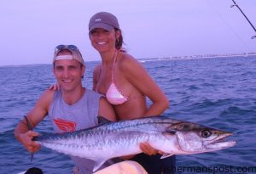
[[[139,143],[148,142],[166,158],[173,154],[199,154],[227,149],[235,141],[224,141],[231,132],[193,122],[173,120],[166,116],[131,121],[107,122],[76,132],[49,134],[34,138],[43,146],[63,154],[96,162],[94,171],[109,159],[139,154]]]

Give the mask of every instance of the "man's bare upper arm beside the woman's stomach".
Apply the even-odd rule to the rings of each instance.
[[[109,104],[108,100],[103,97],[100,99],[98,115],[104,117],[108,121],[116,121],[117,120],[112,105]]]

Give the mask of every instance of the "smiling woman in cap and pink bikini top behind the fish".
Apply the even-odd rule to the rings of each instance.
[[[89,23],[89,36],[91,45],[102,58],[102,64],[97,65],[93,73],[93,90],[106,96],[118,120],[161,115],[169,107],[166,95],[147,70],[122,49],[122,32],[113,14],[100,12],[93,15]],[[149,107],[146,97],[152,102]],[[158,152],[148,143],[142,143],[141,149],[145,154],[126,159],[136,160],[149,174],[161,173],[166,169],[163,162],[167,167],[175,164],[175,158],[160,160],[160,154],[148,156]]]

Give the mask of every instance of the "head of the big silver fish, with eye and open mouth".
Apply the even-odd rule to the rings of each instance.
[[[181,154],[199,154],[220,149],[227,149],[236,144],[225,141],[233,135],[231,132],[201,126],[190,122],[180,122],[172,126],[177,138],[177,146]]]

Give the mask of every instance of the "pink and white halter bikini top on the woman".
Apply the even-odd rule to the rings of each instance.
[[[116,87],[114,84],[114,64],[117,59],[117,51],[114,53],[114,58],[113,58],[113,66],[112,66],[112,77],[111,77],[111,83],[110,86],[108,87],[107,93],[106,93],[106,98],[108,99],[108,102],[110,104],[124,104],[127,100],[128,97],[125,97],[119,89]]]

